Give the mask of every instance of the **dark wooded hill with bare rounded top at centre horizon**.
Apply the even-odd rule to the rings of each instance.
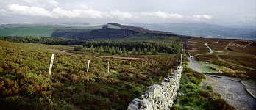
[[[102,26],[101,29],[56,29],[51,36],[90,40],[102,38],[116,39],[124,37],[177,36],[177,34],[152,31],[136,26],[124,26],[118,23],[109,23]]]

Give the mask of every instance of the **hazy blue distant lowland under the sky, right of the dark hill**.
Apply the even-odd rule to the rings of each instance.
[[[165,23],[145,24],[128,23],[132,26],[141,26],[145,29],[174,32],[179,35],[225,38],[225,39],[247,39],[256,40],[256,26],[224,26],[204,23]]]

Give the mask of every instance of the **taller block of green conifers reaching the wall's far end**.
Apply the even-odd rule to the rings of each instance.
[[[139,37],[118,40],[88,40],[83,46],[85,48],[94,48],[96,52],[128,54],[180,54],[181,40],[177,37]]]

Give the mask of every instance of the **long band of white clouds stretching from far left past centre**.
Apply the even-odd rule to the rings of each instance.
[[[24,0],[27,2],[35,2],[40,0]],[[48,1],[48,0],[47,0]],[[67,4],[72,5],[72,4]],[[120,10],[101,11],[94,10],[86,4],[77,4],[77,9],[63,9],[62,7],[55,7],[52,10],[46,10],[42,7],[29,7],[20,4],[8,5],[8,11],[13,14],[29,15],[29,16],[46,16],[50,18],[112,18],[118,20],[128,19],[159,19],[159,18],[183,18],[183,15],[167,13],[167,12],[121,12]],[[6,10],[4,10],[6,11]],[[0,14],[4,11],[0,11]]]

